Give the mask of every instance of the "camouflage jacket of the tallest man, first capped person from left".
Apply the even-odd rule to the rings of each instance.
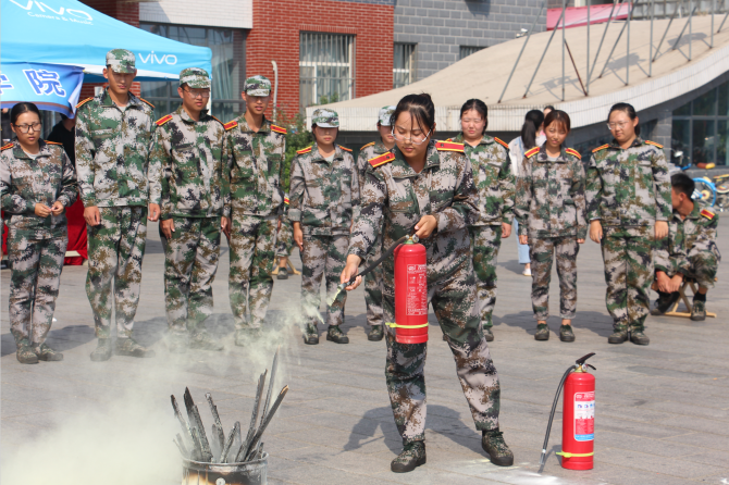
[[[132,94],[119,108],[107,90],[78,103],[76,173],[85,207],[147,206],[153,111]]]

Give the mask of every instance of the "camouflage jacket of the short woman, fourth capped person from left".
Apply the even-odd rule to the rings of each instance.
[[[322,158],[316,142],[296,152],[288,220],[300,222],[305,234],[349,234],[359,214],[359,177],[349,151],[337,145],[333,162]]]

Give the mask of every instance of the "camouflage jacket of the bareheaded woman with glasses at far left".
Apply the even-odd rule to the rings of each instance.
[[[71,207],[77,197],[76,172],[61,144],[40,140],[33,160],[15,140],[0,153],[0,192],[3,221],[10,229],[22,229],[33,239],[54,237],[65,232],[65,212],[40,217],[36,203],[52,207],[58,200]]]

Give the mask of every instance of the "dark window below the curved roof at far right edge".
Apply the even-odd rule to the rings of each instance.
[[[671,149],[674,163],[680,150],[683,164],[729,164],[729,82],[674,110]]]

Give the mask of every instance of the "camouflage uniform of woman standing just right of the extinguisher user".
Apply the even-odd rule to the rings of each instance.
[[[459,134],[455,142],[462,144]],[[496,260],[502,246],[502,223],[511,224],[515,179],[508,145],[484,135],[478,146],[465,144],[479,190],[479,217],[469,226],[473,250],[473,270],[481,323],[493,326],[491,315],[496,306]]]

